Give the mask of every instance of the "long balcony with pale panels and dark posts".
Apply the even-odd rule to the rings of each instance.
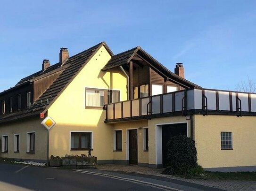
[[[255,115],[256,94],[192,88],[106,105],[105,122],[172,115]]]

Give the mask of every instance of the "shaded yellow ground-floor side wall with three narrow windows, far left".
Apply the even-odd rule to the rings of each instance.
[[[22,122],[12,122],[0,126],[0,149],[2,135],[8,135],[8,153],[0,153],[0,157],[16,159],[47,159],[47,130],[41,125],[42,119],[31,118]],[[35,132],[35,153],[27,152],[27,132]],[[19,153],[14,153],[14,134],[19,134]]]

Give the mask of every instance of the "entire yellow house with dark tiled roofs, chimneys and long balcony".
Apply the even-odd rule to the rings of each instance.
[[[256,94],[204,89],[140,46],[114,55],[105,42],[0,93],[0,157],[47,161],[88,153],[98,163],[166,166],[175,135],[196,141],[206,169],[256,170]],[[48,130],[41,122],[51,117]]]

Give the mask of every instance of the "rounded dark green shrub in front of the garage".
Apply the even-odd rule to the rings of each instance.
[[[184,175],[198,167],[196,144],[192,138],[184,135],[174,136],[167,147],[168,168],[163,173]]]

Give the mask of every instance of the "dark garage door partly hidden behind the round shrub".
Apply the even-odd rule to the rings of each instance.
[[[187,123],[162,125],[163,168],[167,167],[167,143],[172,137],[177,135],[187,135]]]

